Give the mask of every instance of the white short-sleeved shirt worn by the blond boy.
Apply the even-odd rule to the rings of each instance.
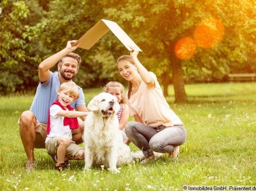
[[[45,143],[47,143],[51,138],[59,136],[69,136],[72,139],[72,132],[69,125],[64,126],[64,116],[58,116],[58,112],[63,110],[58,105],[54,104],[50,107],[50,133],[47,135]],[[66,110],[68,110],[66,108]]]

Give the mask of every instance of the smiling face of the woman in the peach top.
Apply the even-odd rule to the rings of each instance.
[[[127,81],[132,81],[134,77],[134,71],[136,70],[134,64],[132,64],[128,60],[123,60],[117,63],[117,67],[120,75],[124,77],[124,79],[126,79]]]

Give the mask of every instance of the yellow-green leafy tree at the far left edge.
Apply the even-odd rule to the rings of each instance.
[[[30,4],[33,2],[36,1]],[[38,84],[38,79],[35,77],[37,67],[34,67],[34,64],[38,64],[41,60],[38,54],[33,52],[33,45],[36,44],[33,40],[44,25],[43,23],[28,25],[34,20],[25,20],[31,18],[28,16],[30,11],[25,1],[3,0],[0,5],[0,69],[3,71],[0,78],[0,92],[2,94],[25,92],[29,87]],[[33,15],[34,19],[36,19],[35,15]]]

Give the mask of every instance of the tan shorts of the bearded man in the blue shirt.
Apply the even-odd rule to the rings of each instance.
[[[18,124],[20,124],[20,118],[18,120]],[[41,123],[36,119],[34,148],[45,149],[45,139],[47,137],[46,129],[47,123]],[[74,135],[74,132],[75,130],[72,130],[72,135]]]

